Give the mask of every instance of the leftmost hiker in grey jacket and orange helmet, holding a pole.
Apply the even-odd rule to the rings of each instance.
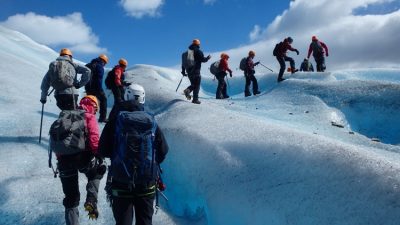
[[[81,74],[78,81],[77,74]],[[77,89],[86,85],[90,80],[90,69],[86,66],[74,63],[72,61],[72,52],[63,48],[60,56],[49,65],[49,70],[43,77],[40,89],[42,94],[40,102],[46,103],[50,86],[54,91],[54,97],[58,108],[61,110],[72,110],[78,106],[79,92]]]

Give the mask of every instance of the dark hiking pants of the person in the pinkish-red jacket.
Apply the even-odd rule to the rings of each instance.
[[[97,203],[100,180],[103,174],[99,174],[95,167],[94,157],[91,152],[81,152],[74,155],[65,155],[58,158],[58,170],[64,192],[63,205],[65,207],[65,219],[67,224],[77,225],[79,213],[75,210],[79,206],[80,192],[78,183],[78,171],[84,173],[88,179],[86,185],[86,202]]]

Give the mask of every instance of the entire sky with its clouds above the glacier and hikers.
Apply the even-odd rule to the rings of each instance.
[[[0,25],[55,51],[69,47],[82,61],[106,53],[108,66],[121,57],[130,65],[175,66],[193,38],[213,60],[229,53],[232,67],[255,50],[258,60],[277,69],[272,48],[287,36],[301,53],[289,53],[297,65],[313,35],[330,49],[328,70],[396,67],[400,58],[400,0],[0,2]]]

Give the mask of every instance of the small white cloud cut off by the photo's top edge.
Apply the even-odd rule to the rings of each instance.
[[[120,0],[120,4],[128,15],[135,18],[159,16],[159,9],[163,3],[164,0]]]

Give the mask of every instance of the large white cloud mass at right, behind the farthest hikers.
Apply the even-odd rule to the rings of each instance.
[[[371,4],[390,2],[392,0],[292,1],[290,7],[267,27],[254,27],[249,36],[257,42],[228,52],[238,54],[236,60],[240,60],[249,49],[254,49],[258,52],[256,57],[278,69],[272,49],[277,42],[291,36],[294,39],[293,47],[300,51],[300,55],[289,55],[299,66],[307,56],[311,36],[317,35],[329,47],[330,56],[326,59],[329,70],[398,67],[400,10],[381,15],[354,13],[356,9]],[[231,55],[231,59],[234,58],[235,55]]]

